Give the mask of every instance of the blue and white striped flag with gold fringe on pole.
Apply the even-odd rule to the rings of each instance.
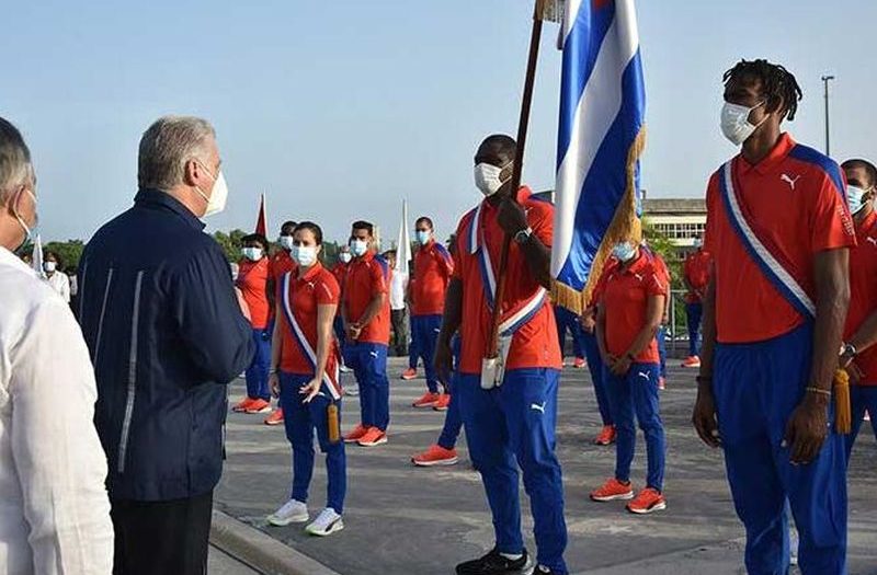
[[[634,0],[567,0],[553,298],[580,311],[619,240],[641,235],[646,90]]]

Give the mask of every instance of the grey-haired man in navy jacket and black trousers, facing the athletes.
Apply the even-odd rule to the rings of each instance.
[[[140,140],[134,207],[98,231],[79,269],[117,575],[206,570],[226,384],[253,355],[246,307],[200,220],[225,207],[219,166],[207,122],[157,120]]]

